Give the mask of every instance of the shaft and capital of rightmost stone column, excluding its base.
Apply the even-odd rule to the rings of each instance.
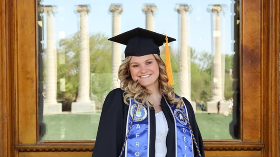
[[[215,47],[214,52],[214,64],[213,64],[213,79],[212,79],[212,100],[221,100],[223,99],[222,94],[222,59],[221,59],[221,39],[220,39],[220,15],[219,13],[222,11],[222,7],[220,5],[214,5],[211,9],[213,13],[212,20],[215,24],[213,30],[213,37],[215,42],[212,45]]]

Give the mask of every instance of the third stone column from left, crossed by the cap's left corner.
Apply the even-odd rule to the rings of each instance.
[[[113,34],[112,36],[119,35],[121,33],[121,13],[123,8],[121,5],[111,5],[110,12],[113,14]],[[119,88],[120,84],[118,81],[119,66],[121,65],[121,44],[112,43],[112,89]]]

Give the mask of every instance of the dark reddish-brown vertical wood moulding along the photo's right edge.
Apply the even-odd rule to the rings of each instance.
[[[266,143],[263,156],[279,156],[279,1],[264,1],[269,10],[264,11],[263,36],[267,52],[264,74],[266,78],[264,93],[265,120],[262,136]],[[266,34],[269,34],[266,36]]]

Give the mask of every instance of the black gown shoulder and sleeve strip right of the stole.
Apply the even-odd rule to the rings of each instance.
[[[183,99],[183,102],[185,103],[185,105],[187,107],[187,110],[188,110],[189,122],[190,122],[190,124],[192,126],[192,131],[193,131],[193,133],[195,135],[195,139],[196,139],[197,145],[199,147],[200,154],[201,154],[202,157],[205,157],[204,146],[203,146],[203,139],[201,137],[199,128],[197,126],[197,122],[195,120],[195,112],[194,112],[194,110],[192,108],[191,103],[186,98],[184,98],[184,97],[182,99]],[[194,144],[193,149],[195,151],[195,157],[199,157],[198,153],[197,153],[197,149],[195,147],[195,144]]]

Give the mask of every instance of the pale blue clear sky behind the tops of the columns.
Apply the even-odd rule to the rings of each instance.
[[[188,4],[192,8],[189,14],[190,45],[197,52],[206,51],[208,53],[211,53],[211,15],[207,12],[207,7],[209,4],[223,4],[227,6],[227,11],[224,13],[225,53],[233,54],[234,0],[43,0],[41,4],[58,7],[58,12],[55,14],[57,41],[79,31],[79,21],[75,9],[80,4],[91,6],[91,12],[88,14],[90,33],[101,32],[108,37],[112,36],[112,14],[109,12],[111,4],[122,4],[123,6],[121,32],[136,27],[145,28],[143,4],[155,4],[158,9],[154,14],[155,32],[165,33],[178,39],[178,12],[175,11],[175,5]],[[46,34],[46,30],[44,33]],[[178,42],[173,43],[173,46],[176,48]],[[124,50],[124,46],[122,50]]]

